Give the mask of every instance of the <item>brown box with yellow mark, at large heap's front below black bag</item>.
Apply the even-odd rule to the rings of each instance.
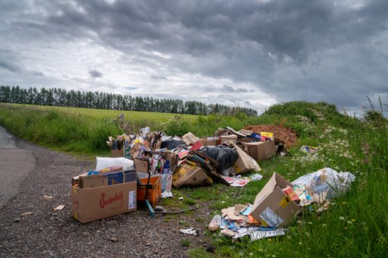
[[[213,180],[199,166],[184,164],[172,175],[172,185],[175,188],[183,186],[205,186],[213,184]]]

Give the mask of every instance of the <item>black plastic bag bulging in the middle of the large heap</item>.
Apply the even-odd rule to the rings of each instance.
[[[200,150],[200,152],[218,162],[218,166],[216,167],[218,173],[232,167],[239,158],[237,150],[224,145],[207,146]]]

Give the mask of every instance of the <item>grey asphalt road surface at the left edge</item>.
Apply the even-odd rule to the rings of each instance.
[[[31,150],[17,148],[16,139],[0,126],[0,207],[17,194],[35,168]]]

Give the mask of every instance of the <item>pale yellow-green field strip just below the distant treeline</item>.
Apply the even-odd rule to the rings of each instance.
[[[26,104],[9,104],[1,103],[0,105],[9,106],[9,107],[22,107],[29,109],[38,109],[38,110],[56,110],[59,112],[67,113],[77,113],[87,117],[93,118],[117,118],[121,114],[124,114],[125,119],[139,121],[139,120],[149,120],[149,121],[168,121],[168,119],[174,115],[172,113],[156,113],[156,112],[139,112],[139,111],[127,111],[127,110],[97,110],[93,108],[79,108],[79,107],[54,107],[47,105],[26,105]],[[181,119],[184,121],[193,121],[197,119],[198,116],[193,114],[181,114]]]

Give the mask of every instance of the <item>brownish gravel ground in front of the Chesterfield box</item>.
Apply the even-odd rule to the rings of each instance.
[[[199,203],[200,210],[193,214],[168,219],[161,214],[152,219],[140,208],[81,224],[70,214],[70,178],[90,170],[95,162],[23,140],[17,140],[17,147],[32,151],[35,169],[0,208],[0,257],[188,257],[189,248],[207,247],[204,232],[211,216],[206,203]],[[65,207],[54,211],[58,205]],[[179,221],[200,229],[200,236],[181,234],[184,227]],[[184,239],[190,247],[180,244]]]

